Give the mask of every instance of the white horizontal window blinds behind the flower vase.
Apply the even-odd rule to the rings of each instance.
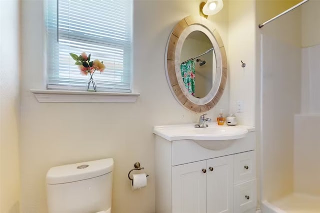
[[[131,0],[47,0],[48,88],[85,88],[69,53],[91,54],[98,91],[130,92]]]

